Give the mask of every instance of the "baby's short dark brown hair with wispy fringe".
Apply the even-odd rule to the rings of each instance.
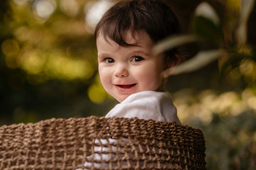
[[[180,23],[171,8],[161,0],[127,0],[113,5],[96,26],[94,38],[115,41],[120,46],[132,46],[124,40],[127,31],[145,31],[152,42],[180,33]],[[174,64],[179,62],[176,49],[165,52]]]

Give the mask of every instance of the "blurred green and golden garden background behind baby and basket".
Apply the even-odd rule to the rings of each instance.
[[[105,116],[117,104],[100,84],[93,38],[95,24],[117,1],[1,0],[0,125]],[[194,11],[202,0],[166,2],[183,33],[194,33]],[[184,45],[184,61],[220,46],[228,46],[228,54],[171,76],[167,90],[183,124],[202,129],[208,170],[256,170],[256,10],[241,50],[235,30],[242,0],[207,2],[220,18],[225,42]]]

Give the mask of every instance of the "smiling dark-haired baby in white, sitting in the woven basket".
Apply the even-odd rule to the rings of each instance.
[[[161,0],[128,0],[112,6],[95,29],[98,69],[105,90],[120,103],[106,118],[125,117],[175,121],[180,123],[171,95],[165,91],[168,69],[179,62],[175,49],[153,54],[153,46],[171,34],[179,33],[179,21]],[[122,139],[126,141],[127,139]],[[109,148],[114,139],[96,139],[95,154],[87,157],[85,167],[107,168]],[[118,150],[112,147],[111,151]],[[112,155],[114,156],[114,155]],[[130,155],[132,156],[132,155]]]

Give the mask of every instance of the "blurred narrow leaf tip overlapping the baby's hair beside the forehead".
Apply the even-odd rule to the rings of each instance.
[[[198,41],[199,38],[196,35],[189,34],[189,35],[173,35],[169,36],[168,38],[160,41],[156,44],[155,47],[153,47],[152,51],[154,54],[159,54],[161,52],[170,50],[172,48],[175,48],[177,46]]]

